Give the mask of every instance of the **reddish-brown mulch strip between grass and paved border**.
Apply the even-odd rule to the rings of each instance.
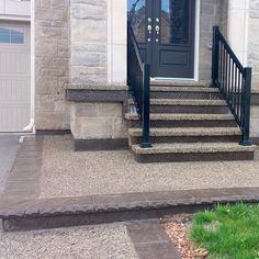
[[[191,222],[192,216],[182,215],[161,221],[161,225],[182,259],[209,258],[209,252],[203,248],[196,247],[189,238]]]

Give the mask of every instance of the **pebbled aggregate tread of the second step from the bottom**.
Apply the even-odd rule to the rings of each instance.
[[[131,136],[142,136],[142,128],[130,128]],[[150,136],[239,136],[238,127],[151,127]]]

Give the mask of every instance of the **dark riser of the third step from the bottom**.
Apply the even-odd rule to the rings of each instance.
[[[235,121],[150,121],[150,127],[236,127]],[[130,121],[128,127],[140,127],[139,122]]]

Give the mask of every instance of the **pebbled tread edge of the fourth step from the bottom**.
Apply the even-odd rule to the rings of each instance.
[[[135,105],[132,99],[128,105]],[[227,106],[224,100],[195,100],[195,99],[150,99],[150,105],[178,105],[178,106]]]

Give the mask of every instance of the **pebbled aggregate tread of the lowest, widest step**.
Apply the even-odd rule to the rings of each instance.
[[[151,148],[142,148],[139,145],[132,146],[132,150],[137,155],[255,151],[257,148],[255,145],[240,146],[236,143],[153,144]]]

